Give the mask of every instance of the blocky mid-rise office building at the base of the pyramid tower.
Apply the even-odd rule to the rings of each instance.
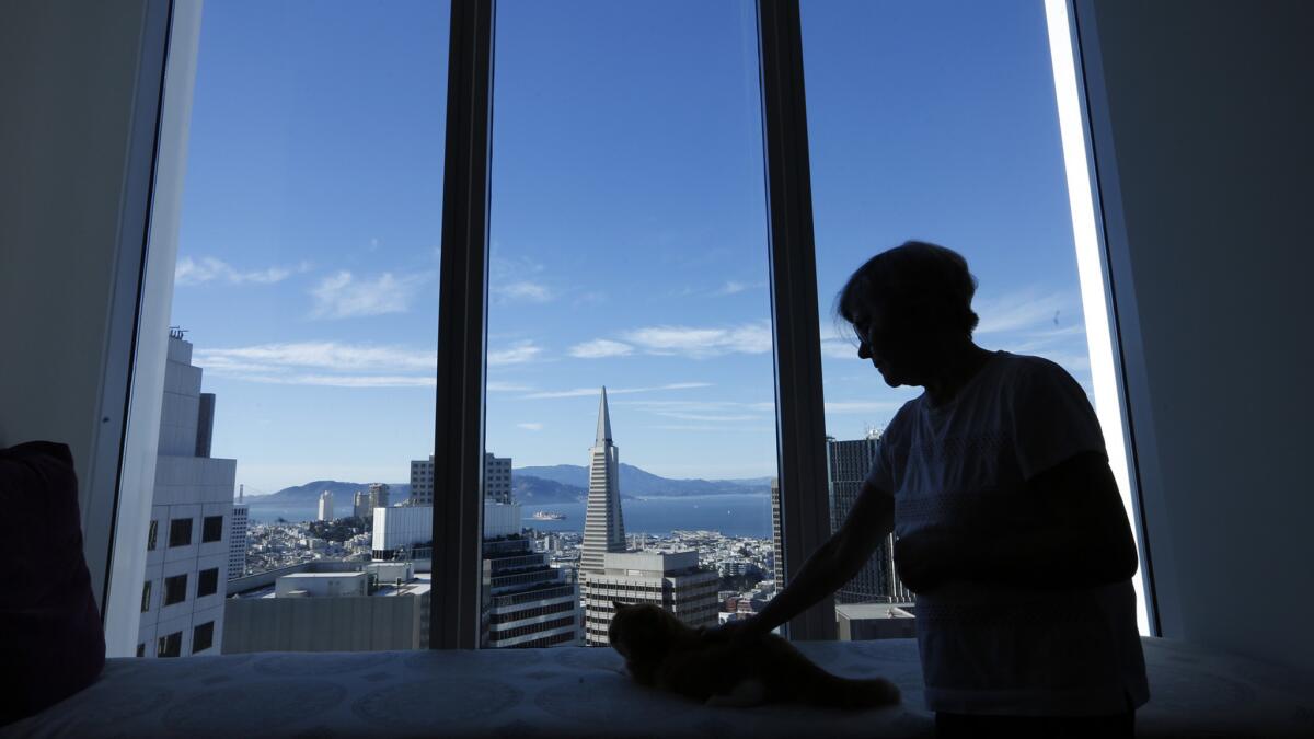
[[[698,552],[606,552],[603,568],[583,580],[585,640],[606,646],[614,601],[654,604],[683,623],[716,626],[720,576],[699,567]]]

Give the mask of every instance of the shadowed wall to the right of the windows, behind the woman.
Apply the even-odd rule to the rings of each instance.
[[[1077,24],[1162,632],[1314,669],[1314,5]]]

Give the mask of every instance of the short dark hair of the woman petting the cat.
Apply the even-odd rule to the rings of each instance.
[[[853,325],[855,317],[880,309],[908,327],[962,331],[971,335],[976,277],[967,260],[943,246],[908,241],[867,259],[836,296],[834,313]]]

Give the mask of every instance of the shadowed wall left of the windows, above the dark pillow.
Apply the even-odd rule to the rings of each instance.
[[[72,448],[97,598],[110,531],[85,523],[108,521],[114,502],[131,355],[122,318],[137,306],[163,64],[159,8],[0,5],[0,446]]]

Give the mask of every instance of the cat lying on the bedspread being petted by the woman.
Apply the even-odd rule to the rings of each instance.
[[[710,706],[799,702],[875,709],[899,702],[894,682],[830,675],[775,634],[740,643],[686,626],[652,604],[612,606],[616,614],[607,638],[640,685]]]

